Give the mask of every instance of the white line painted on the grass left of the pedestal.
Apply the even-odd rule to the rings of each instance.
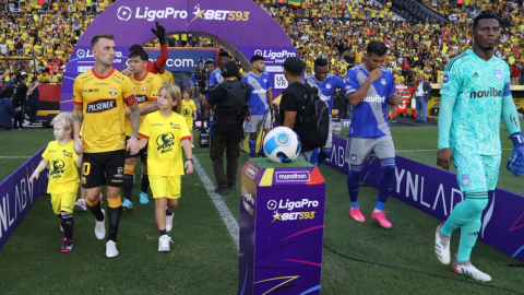
[[[238,227],[237,220],[235,220],[231,212],[227,208],[226,203],[224,202],[224,200],[222,200],[221,196],[214,191],[215,187],[213,186],[213,182],[211,181],[210,177],[207,177],[207,174],[204,172],[204,168],[202,168],[202,166],[200,165],[200,162],[196,160],[194,154],[193,154],[193,162],[194,162],[193,163],[194,169],[199,174],[200,179],[202,179],[202,182],[204,184],[204,187],[207,190],[207,194],[210,194],[211,200],[213,200],[213,203],[218,210],[218,213],[221,213],[222,220],[226,224],[227,231],[229,231],[229,235],[231,235],[233,240],[237,245],[237,248],[239,248],[239,241],[238,241],[239,227]]]

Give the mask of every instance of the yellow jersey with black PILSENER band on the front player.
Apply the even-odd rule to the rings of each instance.
[[[94,69],[76,76],[73,102],[83,106],[84,152],[126,149],[124,104],[132,106],[136,103],[133,91],[133,83],[115,69],[106,76],[97,75]]]

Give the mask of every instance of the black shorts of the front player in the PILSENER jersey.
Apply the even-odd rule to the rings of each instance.
[[[104,153],[84,153],[82,187],[90,189],[100,186],[121,187],[126,150]]]

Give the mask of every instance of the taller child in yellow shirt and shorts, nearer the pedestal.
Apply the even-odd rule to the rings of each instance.
[[[145,116],[139,130],[140,149],[147,145],[147,170],[160,235],[159,252],[169,251],[169,243],[172,243],[167,233],[172,229],[172,212],[178,206],[183,168],[186,167],[187,174],[193,173],[191,134],[186,119],[180,115],[181,96],[177,85],[162,86],[158,95],[159,110]],[[184,164],[180,142],[187,156]]]

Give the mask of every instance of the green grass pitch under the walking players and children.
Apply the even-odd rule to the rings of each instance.
[[[392,132],[398,155],[436,166],[437,127],[394,127]],[[0,137],[0,179],[23,164],[24,156],[53,139],[50,129],[3,131]],[[502,148],[508,150],[503,150],[498,186],[524,194],[522,179],[505,169],[512,144],[504,128],[501,138]],[[207,152],[193,150],[214,181]],[[240,166],[247,160],[242,154]],[[439,221],[394,198],[385,208],[393,228],[381,228],[370,219],[377,199],[373,188],[360,190],[367,221],[353,221],[346,176],[325,165],[320,170],[327,181],[322,294],[524,293],[524,268],[508,267],[521,262],[484,243],[477,243],[472,261],[489,273],[492,282],[476,283],[453,273],[451,266],[440,264],[433,253]],[[93,215],[79,211],[74,212],[74,249],[60,253],[59,221],[51,212],[50,197],[41,196],[0,250],[1,294],[236,294],[237,248],[198,174],[182,177],[182,198],[170,233],[171,251],[159,253],[151,191],[151,202],[140,204],[140,168],[135,172],[134,211],[122,213],[119,257],[106,258],[105,240],[94,236]],[[223,200],[238,221],[238,188]],[[452,251],[457,244],[458,233],[454,233]]]

